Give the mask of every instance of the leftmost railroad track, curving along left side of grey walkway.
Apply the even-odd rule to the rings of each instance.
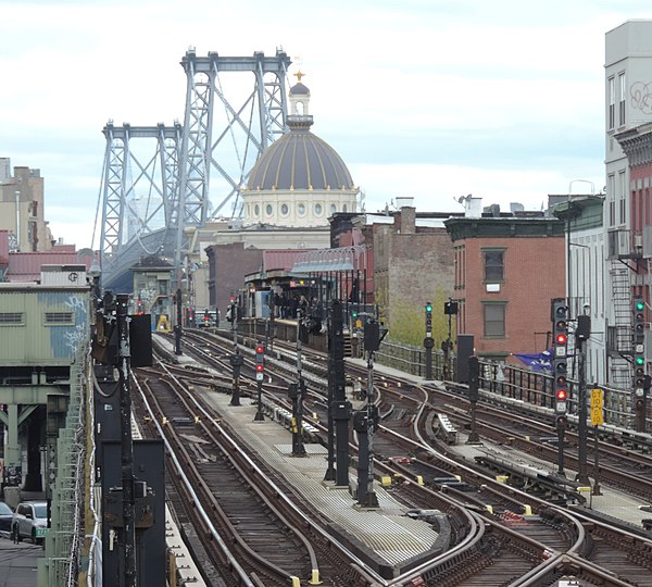
[[[151,371],[136,377],[152,412],[150,422],[165,423],[162,433],[168,451],[192,489],[176,485],[186,505],[191,504],[184,512],[208,514],[199,520],[193,515],[205,550],[215,569],[231,571],[222,580],[254,586],[309,580],[334,587],[367,584],[346,551],[338,553],[330,537],[313,526],[306,529],[304,516],[288,500],[279,500],[274,472],[255,464],[184,386]]]

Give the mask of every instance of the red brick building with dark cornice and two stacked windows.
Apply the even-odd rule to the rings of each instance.
[[[474,335],[478,355],[550,345],[550,300],[565,296],[564,222],[543,212],[479,213],[444,222],[453,241],[457,333]]]

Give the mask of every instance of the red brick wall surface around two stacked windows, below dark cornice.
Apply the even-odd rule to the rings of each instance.
[[[461,243],[461,242],[460,242]],[[478,354],[540,352],[551,329],[550,300],[564,297],[566,247],[564,237],[468,238],[461,334],[473,334]],[[482,248],[504,247],[504,282],[488,292]],[[506,302],[504,338],[485,337],[484,304]]]

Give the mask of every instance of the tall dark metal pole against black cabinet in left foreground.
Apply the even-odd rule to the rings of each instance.
[[[130,357],[129,296],[117,296],[117,332],[120,338],[120,424],[123,497],[123,532],[125,540],[125,587],[136,587],[136,526],[134,524],[134,442],[131,438],[131,392],[129,389]]]

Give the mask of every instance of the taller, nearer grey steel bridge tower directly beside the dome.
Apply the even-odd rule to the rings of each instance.
[[[277,49],[266,58],[197,57],[189,50],[181,60],[187,76],[184,118],[184,168],[180,189],[186,225],[202,225],[208,218],[211,192],[221,198],[212,210],[215,217],[233,203],[230,217],[241,213],[239,190],[258,157],[286,132],[286,77],[291,61]],[[254,86],[235,108],[222,86],[223,73],[254,74]],[[222,107],[224,112],[221,112]],[[221,114],[221,116],[218,116]],[[220,118],[220,120],[218,120]],[[217,177],[211,187],[211,172]]]

